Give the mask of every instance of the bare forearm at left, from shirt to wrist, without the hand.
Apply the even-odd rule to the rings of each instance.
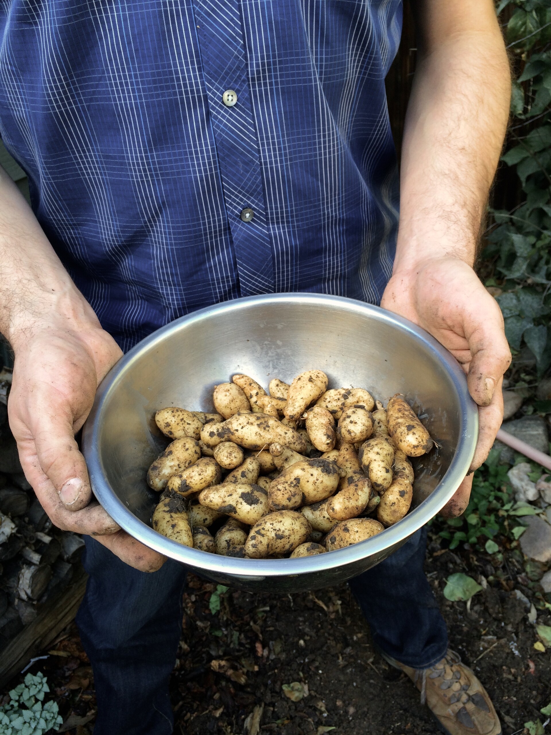
[[[0,332],[15,351],[37,329],[100,329],[32,209],[0,168]]]

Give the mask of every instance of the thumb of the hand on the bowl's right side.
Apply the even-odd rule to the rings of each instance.
[[[477,304],[480,309],[480,304]],[[503,331],[500,307],[489,294],[478,310],[475,328],[467,334],[472,360],[469,365],[469,393],[479,406],[489,406],[494,390],[511,365],[511,350]]]

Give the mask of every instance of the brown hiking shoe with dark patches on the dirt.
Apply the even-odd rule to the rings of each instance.
[[[421,703],[428,705],[447,735],[501,735],[488,692],[453,650],[428,669],[412,669],[384,653],[383,657],[417,685]]]

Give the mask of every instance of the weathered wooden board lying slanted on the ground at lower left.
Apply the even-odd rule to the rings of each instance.
[[[87,578],[87,573],[79,566],[71,584],[45,603],[35,620],[0,652],[0,686],[7,684],[32,658],[48,648],[65,625],[71,623],[84,597]]]

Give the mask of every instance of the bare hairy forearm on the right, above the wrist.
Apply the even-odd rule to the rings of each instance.
[[[491,0],[419,0],[395,273],[475,260],[508,121],[511,80]]]

